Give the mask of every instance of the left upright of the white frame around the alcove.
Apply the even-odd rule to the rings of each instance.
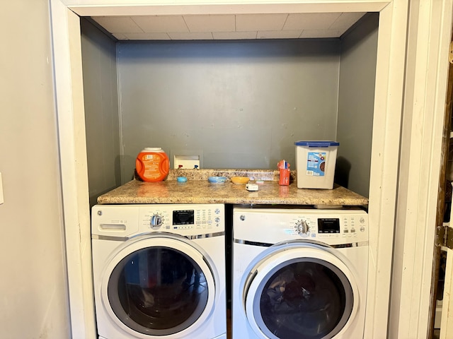
[[[50,0],[69,311],[74,339],[95,339],[80,19]]]

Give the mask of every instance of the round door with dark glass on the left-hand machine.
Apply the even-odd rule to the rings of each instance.
[[[210,316],[214,272],[195,244],[160,234],[135,239],[105,268],[103,305],[135,338],[180,338]]]

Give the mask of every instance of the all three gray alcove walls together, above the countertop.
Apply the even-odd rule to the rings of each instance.
[[[294,141],[310,139],[339,141],[337,182],[368,196],[378,19],[340,38],[125,41],[81,18],[91,206],[143,147],[295,169]]]

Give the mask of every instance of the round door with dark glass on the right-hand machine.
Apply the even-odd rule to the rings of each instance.
[[[359,297],[352,273],[332,251],[286,244],[252,268],[243,301],[260,338],[319,339],[346,331]]]

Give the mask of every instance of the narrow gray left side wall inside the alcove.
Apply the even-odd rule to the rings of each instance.
[[[81,19],[90,205],[121,184],[116,42]]]

